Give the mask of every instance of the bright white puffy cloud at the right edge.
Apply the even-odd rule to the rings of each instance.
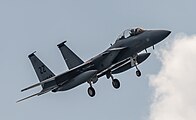
[[[154,88],[150,120],[196,120],[196,36],[176,37],[161,50],[162,67],[150,77]]]

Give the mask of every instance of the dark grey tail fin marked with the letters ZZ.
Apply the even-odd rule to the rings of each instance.
[[[42,82],[43,80],[55,76],[55,74],[34,53],[30,54],[28,58],[30,59],[33,65],[33,68],[37,74],[39,81]],[[43,89],[49,88],[55,84],[56,84],[55,81],[51,81],[43,84],[42,88]]]

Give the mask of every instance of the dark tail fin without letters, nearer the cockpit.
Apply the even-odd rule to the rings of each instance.
[[[74,68],[82,63],[84,63],[71,49],[69,49],[64,43],[66,41],[58,44],[58,48],[60,49],[65,63],[69,69]]]

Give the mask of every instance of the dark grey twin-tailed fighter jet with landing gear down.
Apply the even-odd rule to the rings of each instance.
[[[87,92],[90,97],[94,97],[95,89],[93,84],[104,75],[107,79],[111,78],[113,87],[118,89],[120,81],[114,78],[113,74],[122,73],[135,67],[136,75],[140,77],[141,71],[138,65],[150,56],[147,48],[153,47],[154,49],[154,45],[165,39],[170,33],[171,31],[168,30],[127,29],[117,38],[113,45],[86,62],[69,49],[65,45],[66,41],[64,41],[57,46],[69,70],[59,75],[55,75],[33,52],[28,58],[40,82],[22,89],[21,92],[37,86],[41,86],[42,90],[17,102],[33,96],[40,96],[50,91],[70,90],[83,83],[89,84]],[[141,53],[144,50],[146,52]]]

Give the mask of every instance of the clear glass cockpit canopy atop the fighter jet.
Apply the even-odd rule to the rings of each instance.
[[[136,36],[138,34],[141,34],[142,32],[144,32],[144,30],[141,29],[141,28],[127,29],[122,34],[119,35],[117,40],[122,40],[122,39],[125,39],[125,38]]]

